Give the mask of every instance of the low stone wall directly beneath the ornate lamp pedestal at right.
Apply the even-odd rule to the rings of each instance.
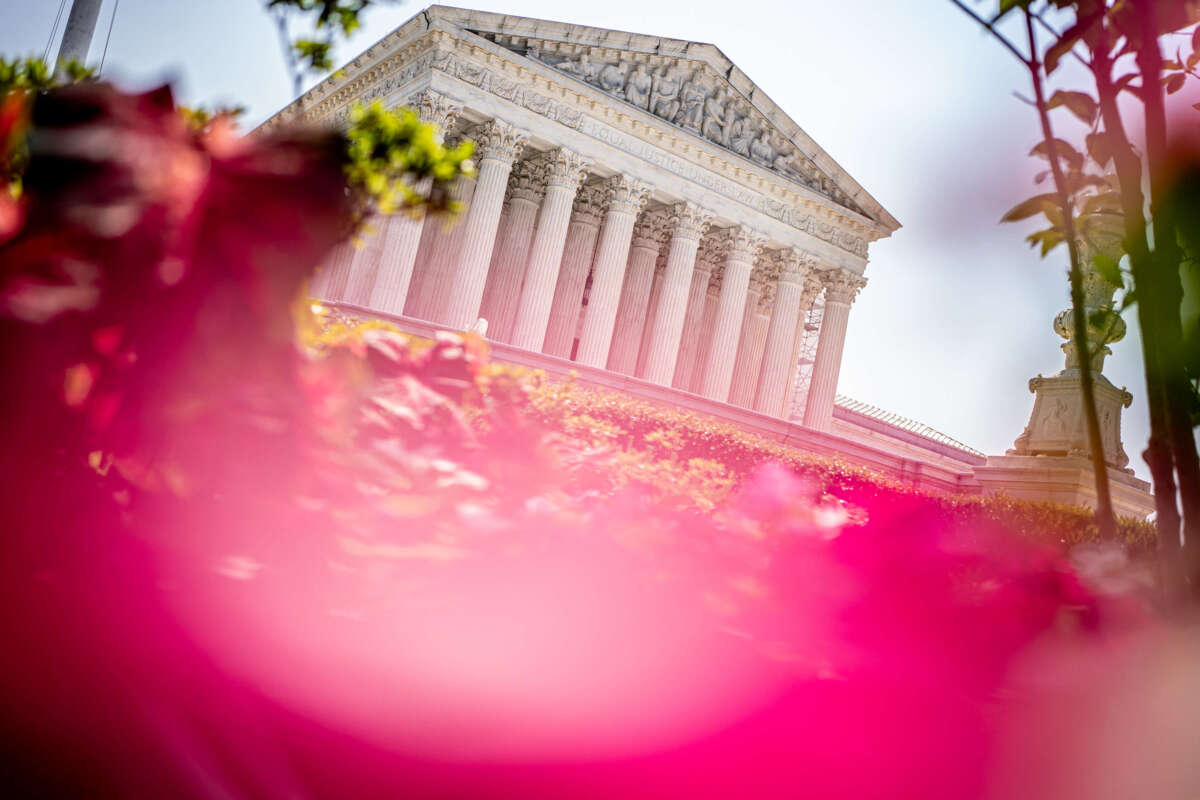
[[[989,456],[974,468],[985,495],[1049,500],[1096,507],[1092,462],[1084,456]],[[1145,519],[1154,511],[1150,483],[1109,467],[1112,509],[1122,517]]]

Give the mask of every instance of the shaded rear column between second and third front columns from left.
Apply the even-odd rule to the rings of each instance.
[[[529,242],[538,222],[538,209],[546,190],[546,163],[535,157],[512,166],[509,175],[508,213],[496,234],[496,252],[479,315],[487,320],[487,338],[508,342],[521,300]]]

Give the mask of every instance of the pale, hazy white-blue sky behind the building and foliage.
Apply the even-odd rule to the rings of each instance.
[[[107,78],[170,80],[187,104],[246,106],[248,126],[290,100],[262,0],[104,0],[91,61],[114,5]],[[1043,261],[1022,241],[1032,225],[997,223],[1034,193],[1037,166],[1025,154],[1038,130],[1013,96],[1027,94],[1027,78],[947,0],[466,5],[721,48],[904,225],[870,247],[839,391],[989,453],[1012,446],[1033,405],[1028,379],[1063,366],[1051,320],[1068,305],[1066,254]],[[372,7],[335,61],[424,7]],[[0,54],[41,55],[58,8],[59,0],[0,0]],[[1134,395],[1123,439],[1147,477],[1145,379],[1133,314],[1126,319],[1130,333],[1104,374]]]

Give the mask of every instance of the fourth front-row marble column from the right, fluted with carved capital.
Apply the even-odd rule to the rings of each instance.
[[[712,213],[691,203],[677,203],[671,213],[667,265],[654,313],[650,349],[646,356],[646,379],[661,386],[670,386],[674,375],[696,251],[713,218]]]

